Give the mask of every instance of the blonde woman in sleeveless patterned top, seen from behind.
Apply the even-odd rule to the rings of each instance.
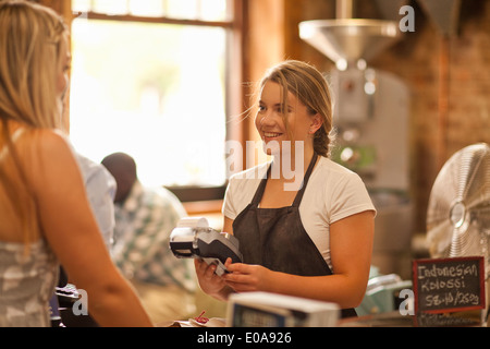
[[[61,263],[101,326],[150,326],[111,262],[61,113],[68,31],[48,8],[0,1],[0,326],[49,326]]]

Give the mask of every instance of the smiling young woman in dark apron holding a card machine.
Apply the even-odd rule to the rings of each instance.
[[[196,260],[201,289],[221,300],[267,291],[329,301],[355,316],[376,209],[360,178],[329,159],[332,107],[322,74],[301,61],[272,67],[260,82],[255,124],[273,160],[233,176],[223,204],[223,231],[240,240],[244,263],[228,261],[231,273],[219,277]],[[287,156],[303,178],[296,190],[280,168]]]

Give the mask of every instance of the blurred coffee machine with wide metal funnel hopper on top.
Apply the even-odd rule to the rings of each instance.
[[[335,63],[326,72],[334,99],[332,157],[363,178],[377,207],[372,264],[409,277],[409,89],[367,63],[402,33],[397,22],[342,16],[302,22],[299,35]]]

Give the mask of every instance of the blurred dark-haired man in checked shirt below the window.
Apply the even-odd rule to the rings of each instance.
[[[134,285],[155,324],[188,318],[195,312],[194,269],[189,260],[176,258],[169,246],[171,231],[186,216],[182,203],[162,186],[144,186],[127,154],[108,155],[102,165],[118,184],[114,263]]]

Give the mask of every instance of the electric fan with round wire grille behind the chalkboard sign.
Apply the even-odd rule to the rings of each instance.
[[[469,145],[442,167],[429,197],[427,242],[432,257],[483,256],[486,278],[489,276],[488,144]]]

